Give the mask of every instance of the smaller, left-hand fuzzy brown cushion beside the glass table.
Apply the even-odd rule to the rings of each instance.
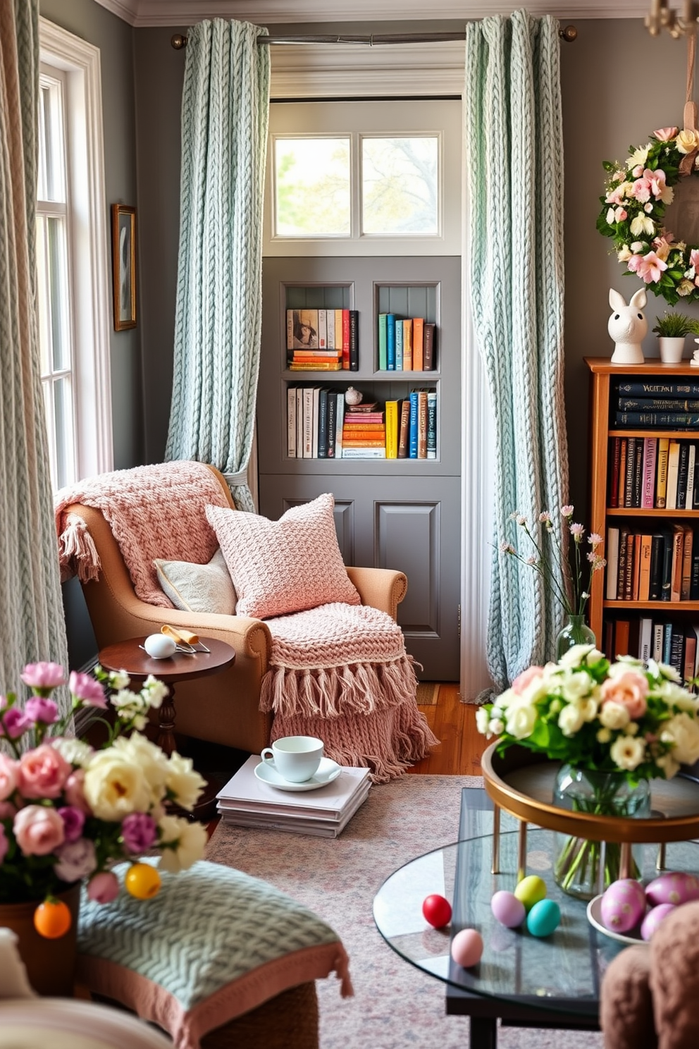
[[[605,1049],[656,1049],[650,988],[651,950],[627,947],[612,959],[599,997]]]

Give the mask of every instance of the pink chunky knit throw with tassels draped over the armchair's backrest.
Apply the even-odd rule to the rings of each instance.
[[[88,477],[57,493],[53,513],[61,578],[96,579],[100,557],[82,518],[67,514],[73,502],[100,510],[111,527],[141,601],[172,608],[153,564],[156,557],[205,564],[218,541],[206,520],[207,502],[230,504],[203,463],[173,462]]]

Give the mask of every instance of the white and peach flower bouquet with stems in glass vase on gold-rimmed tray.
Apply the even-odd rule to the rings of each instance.
[[[499,751],[517,744],[562,762],[565,797],[559,804],[630,816],[643,814],[634,788],[648,801],[649,779],[670,779],[680,765],[699,759],[698,711],[699,698],[673,667],[630,656],[610,663],[594,645],[575,645],[558,663],[521,673],[479,707],[476,724],[498,738]],[[582,780],[583,789],[566,791],[566,777],[568,784]],[[606,883],[615,880],[618,845],[603,847],[568,839],[554,872],[561,887],[569,891],[581,878],[591,885],[602,876]]]

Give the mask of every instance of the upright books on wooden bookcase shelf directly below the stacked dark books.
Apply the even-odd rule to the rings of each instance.
[[[610,437],[609,459],[610,508],[699,509],[696,441]]]

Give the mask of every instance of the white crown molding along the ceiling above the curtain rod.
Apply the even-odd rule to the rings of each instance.
[[[256,25],[276,22],[378,22],[424,20],[423,0],[353,0],[351,5],[336,0],[95,0],[113,15],[133,26],[193,25],[205,18],[236,18]],[[679,0],[677,0],[679,3]],[[488,15],[510,15],[520,4],[502,0],[436,0],[430,4],[429,21],[468,21]],[[650,0],[529,0],[532,15],[554,15],[559,19],[643,18]]]

